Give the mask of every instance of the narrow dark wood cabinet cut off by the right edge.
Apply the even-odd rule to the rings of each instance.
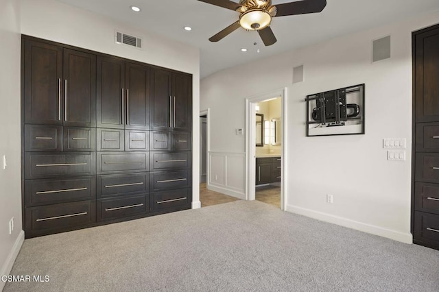
[[[414,32],[412,232],[439,250],[439,25]]]

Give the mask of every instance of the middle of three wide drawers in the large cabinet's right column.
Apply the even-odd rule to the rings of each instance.
[[[152,191],[191,186],[191,171],[156,171],[151,173]]]

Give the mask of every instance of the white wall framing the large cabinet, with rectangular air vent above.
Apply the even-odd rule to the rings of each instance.
[[[193,207],[200,208],[200,51],[54,0],[22,0],[21,32],[193,74]],[[115,44],[115,30],[139,36],[143,49]]]

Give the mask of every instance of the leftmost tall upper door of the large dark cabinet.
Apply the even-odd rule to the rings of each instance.
[[[62,125],[62,47],[24,42],[25,123]]]

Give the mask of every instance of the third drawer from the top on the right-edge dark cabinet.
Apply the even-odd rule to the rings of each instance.
[[[414,192],[416,210],[439,215],[439,184],[416,182]]]

